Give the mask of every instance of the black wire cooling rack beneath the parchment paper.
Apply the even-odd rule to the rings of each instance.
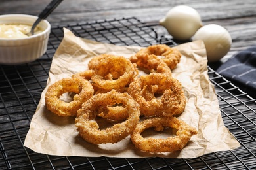
[[[52,28],[43,57],[22,65],[0,65],[0,169],[256,169],[255,99],[211,67],[208,73],[224,124],[241,144],[235,150],[193,159],[135,159],[51,156],[25,148],[26,133],[46,86],[51,60],[62,41],[63,27],[79,37],[120,46],[177,45],[171,38],[158,34],[158,25],[147,25],[133,17]]]

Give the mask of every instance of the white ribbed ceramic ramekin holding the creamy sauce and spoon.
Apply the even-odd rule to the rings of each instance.
[[[0,15],[0,24],[28,24],[33,25],[37,16],[25,14]],[[18,39],[0,37],[0,64],[21,64],[35,61],[43,56],[47,50],[51,25],[42,20],[39,25],[41,33]]]

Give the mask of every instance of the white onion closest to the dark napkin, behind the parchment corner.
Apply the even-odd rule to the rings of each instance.
[[[209,62],[219,61],[231,48],[232,37],[230,33],[221,25],[204,25],[196,31],[193,41],[201,39],[206,48]]]

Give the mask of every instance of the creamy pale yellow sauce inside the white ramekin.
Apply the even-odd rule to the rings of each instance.
[[[27,24],[0,24],[0,38],[20,39],[28,37],[26,33],[30,32],[32,25]],[[41,33],[43,29],[35,27],[34,34]]]

